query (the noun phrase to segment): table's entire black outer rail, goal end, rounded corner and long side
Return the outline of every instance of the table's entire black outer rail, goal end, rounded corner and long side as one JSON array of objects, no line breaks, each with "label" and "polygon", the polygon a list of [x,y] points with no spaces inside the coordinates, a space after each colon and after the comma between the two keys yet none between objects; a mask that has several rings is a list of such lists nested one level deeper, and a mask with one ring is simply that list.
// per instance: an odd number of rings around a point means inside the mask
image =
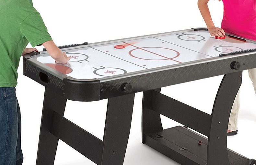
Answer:
[{"label": "table's entire black outer rail, goal end, rounded corner and long side", "polygon": [[[29,62],[27,59],[31,57],[27,55],[24,56],[23,72],[24,75],[59,94],[63,94],[69,100],[97,101],[256,68],[255,56],[256,53],[205,61],[164,71],[152,71],[147,74],[127,74],[124,78],[116,77],[100,82],[98,79],[79,80],[71,77],[60,79]],[[236,65],[239,67],[234,67],[234,63],[239,64]]]}]

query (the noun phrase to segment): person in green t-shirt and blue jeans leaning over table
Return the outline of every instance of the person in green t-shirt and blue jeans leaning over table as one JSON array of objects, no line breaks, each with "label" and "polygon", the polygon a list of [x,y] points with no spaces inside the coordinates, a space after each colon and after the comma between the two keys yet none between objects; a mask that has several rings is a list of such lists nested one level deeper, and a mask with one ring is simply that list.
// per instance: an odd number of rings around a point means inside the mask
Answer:
[{"label": "person in green t-shirt and blue jeans leaning over table", "polygon": [[15,95],[21,55],[42,44],[57,63],[67,57],[52,41],[31,0],[0,0],[0,165],[21,165],[20,109]]}]

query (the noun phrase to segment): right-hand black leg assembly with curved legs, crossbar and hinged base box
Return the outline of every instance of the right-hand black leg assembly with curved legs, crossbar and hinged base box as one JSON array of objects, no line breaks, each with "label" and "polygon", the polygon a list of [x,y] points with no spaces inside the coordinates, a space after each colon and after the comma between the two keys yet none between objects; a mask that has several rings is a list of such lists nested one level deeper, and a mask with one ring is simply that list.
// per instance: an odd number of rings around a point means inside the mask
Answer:
[{"label": "right-hand black leg assembly with curved legs, crossbar and hinged base box", "polygon": [[[248,165],[248,158],[227,149],[228,120],[241,81],[242,71],[224,75],[212,115],[158,91],[146,91],[142,115],[143,142],[184,165]],[[208,139],[180,126],[162,130],[159,114],[204,134]]]}]

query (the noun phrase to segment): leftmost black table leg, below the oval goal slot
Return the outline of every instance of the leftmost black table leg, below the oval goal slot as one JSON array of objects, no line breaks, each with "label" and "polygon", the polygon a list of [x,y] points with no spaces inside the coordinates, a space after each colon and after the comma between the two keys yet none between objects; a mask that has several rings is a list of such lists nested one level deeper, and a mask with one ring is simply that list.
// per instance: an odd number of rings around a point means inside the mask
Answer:
[{"label": "leftmost black table leg, below the oval goal slot", "polygon": [[36,165],[53,165],[59,138],[50,133],[53,111],[64,116],[66,99],[45,88]]}]

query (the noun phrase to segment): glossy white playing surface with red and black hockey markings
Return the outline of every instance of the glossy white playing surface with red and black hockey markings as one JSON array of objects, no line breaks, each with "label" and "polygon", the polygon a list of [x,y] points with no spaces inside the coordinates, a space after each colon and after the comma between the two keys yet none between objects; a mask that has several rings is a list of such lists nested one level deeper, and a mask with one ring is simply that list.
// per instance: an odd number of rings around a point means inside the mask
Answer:
[{"label": "glossy white playing surface with red and black hockey markings", "polygon": [[[116,49],[116,45],[123,45],[125,48]],[[208,31],[192,31],[67,50],[67,55],[72,58],[65,66],[73,70],[67,76],[93,79],[254,48],[254,43],[230,37],[220,40],[211,37]],[[48,54],[33,58],[44,64],[55,63]]]}]

